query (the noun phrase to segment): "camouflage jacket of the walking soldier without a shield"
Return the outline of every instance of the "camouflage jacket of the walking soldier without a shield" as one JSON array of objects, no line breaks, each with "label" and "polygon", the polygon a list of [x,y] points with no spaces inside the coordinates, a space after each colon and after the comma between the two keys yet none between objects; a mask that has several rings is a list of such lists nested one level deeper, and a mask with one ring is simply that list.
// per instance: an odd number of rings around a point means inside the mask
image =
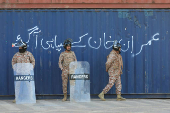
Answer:
[{"label": "camouflage jacket of the walking soldier without a shield", "polygon": [[123,69],[123,60],[122,56],[116,53],[115,50],[112,50],[110,54],[107,56],[106,62],[106,71],[112,71],[114,74],[119,73],[122,74]]}]

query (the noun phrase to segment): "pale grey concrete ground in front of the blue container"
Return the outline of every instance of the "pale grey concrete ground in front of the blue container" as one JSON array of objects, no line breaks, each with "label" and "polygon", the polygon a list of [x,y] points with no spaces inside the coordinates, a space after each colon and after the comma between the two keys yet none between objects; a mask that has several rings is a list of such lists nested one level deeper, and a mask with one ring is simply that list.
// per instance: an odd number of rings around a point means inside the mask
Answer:
[{"label": "pale grey concrete ground in front of the blue container", "polygon": [[81,103],[50,99],[37,100],[36,104],[0,100],[0,113],[170,113],[170,99],[92,99]]}]

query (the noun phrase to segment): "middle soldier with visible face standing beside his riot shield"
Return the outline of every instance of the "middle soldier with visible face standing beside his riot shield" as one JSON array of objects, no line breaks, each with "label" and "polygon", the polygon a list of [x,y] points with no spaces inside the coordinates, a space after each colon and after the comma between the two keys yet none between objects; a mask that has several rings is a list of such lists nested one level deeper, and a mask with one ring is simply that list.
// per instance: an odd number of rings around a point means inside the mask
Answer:
[{"label": "middle soldier with visible face standing beside his riot shield", "polygon": [[63,94],[64,98],[62,101],[67,100],[67,83],[68,83],[68,74],[69,74],[69,64],[73,61],[77,61],[76,55],[73,51],[71,51],[71,41],[66,40],[64,42],[65,51],[60,54],[59,57],[59,67],[62,70],[62,86],[63,86]]}]

